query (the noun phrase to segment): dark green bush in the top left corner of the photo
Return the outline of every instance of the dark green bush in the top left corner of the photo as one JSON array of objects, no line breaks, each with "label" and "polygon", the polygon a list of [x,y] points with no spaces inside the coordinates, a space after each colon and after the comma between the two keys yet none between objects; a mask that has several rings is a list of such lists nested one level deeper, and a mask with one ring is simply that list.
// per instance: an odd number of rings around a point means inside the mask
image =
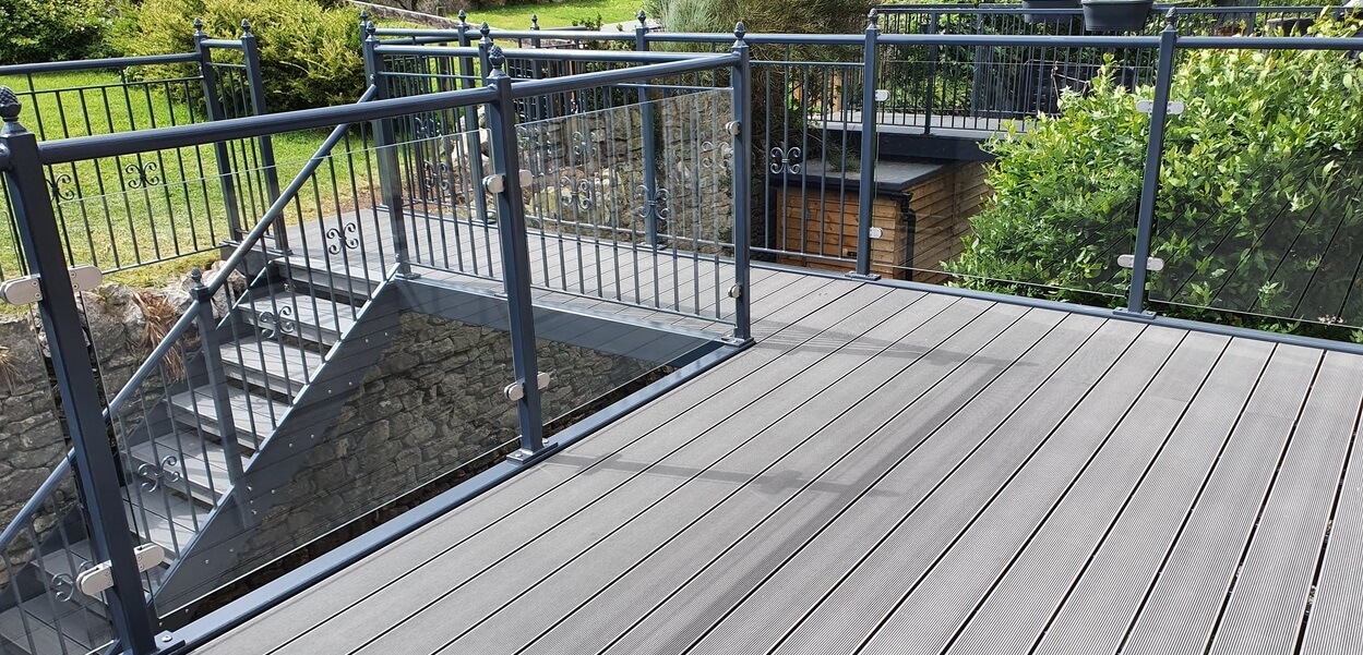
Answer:
[{"label": "dark green bush in the top left corner of the photo", "polygon": [[0,65],[97,54],[106,14],[101,0],[0,0]]}]

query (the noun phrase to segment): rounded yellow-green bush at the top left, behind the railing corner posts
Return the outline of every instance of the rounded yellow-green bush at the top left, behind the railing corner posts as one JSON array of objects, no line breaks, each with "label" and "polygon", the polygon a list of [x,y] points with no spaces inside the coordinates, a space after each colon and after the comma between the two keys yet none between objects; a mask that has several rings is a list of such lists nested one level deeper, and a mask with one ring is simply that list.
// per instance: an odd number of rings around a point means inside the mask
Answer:
[{"label": "rounded yellow-green bush at the top left, behind the railing corner posts", "polygon": [[194,49],[194,19],[215,38],[251,20],[271,112],[354,102],[364,90],[356,12],[309,0],[146,0],[125,11],[114,41],[129,54]]}]

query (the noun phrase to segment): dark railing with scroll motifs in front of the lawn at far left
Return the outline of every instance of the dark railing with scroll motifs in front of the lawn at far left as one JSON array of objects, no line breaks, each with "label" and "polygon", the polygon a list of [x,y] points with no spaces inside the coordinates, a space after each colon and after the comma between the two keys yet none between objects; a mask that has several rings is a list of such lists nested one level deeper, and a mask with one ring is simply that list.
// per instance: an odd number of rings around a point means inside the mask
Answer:
[{"label": "dark railing with scroll motifs in front of the lawn at far left", "polygon": [[[30,108],[42,140],[263,114],[259,52],[243,29],[237,39],[211,39],[198,23],[195,52],[181,54],[5,65],[0,83]],[[105,272],[217,249],[279,191],[269,138],[48,166],[45,178],[68,263]],[[11,279],[27,270],[12,203],[0,196],[0,279]],[[109,202],[101,211],[67,203],[93,196]]]}]

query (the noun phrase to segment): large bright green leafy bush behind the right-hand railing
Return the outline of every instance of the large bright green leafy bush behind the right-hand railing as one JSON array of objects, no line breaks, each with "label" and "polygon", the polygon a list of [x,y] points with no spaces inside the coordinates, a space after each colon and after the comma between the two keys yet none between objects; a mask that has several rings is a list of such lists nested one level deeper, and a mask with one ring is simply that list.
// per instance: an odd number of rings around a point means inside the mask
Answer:
[{"label": "large bright green leafy bush behind the right-hand railing", "polygon": [[[1341,52],[1179,54],[1171,98],[1187,109],[1165,132],[1153,256],[1167,268],[1152,300],[1363,324],[1363,302],[1343,306],[1363,259],[1360,80]],[[1131,252],[1149,129],[1135,98],[1150,97],[1100,75],[1059,117],[991,142],[995,199],[947,268],[976,287],[1124,295],[1116,256]]]}]

